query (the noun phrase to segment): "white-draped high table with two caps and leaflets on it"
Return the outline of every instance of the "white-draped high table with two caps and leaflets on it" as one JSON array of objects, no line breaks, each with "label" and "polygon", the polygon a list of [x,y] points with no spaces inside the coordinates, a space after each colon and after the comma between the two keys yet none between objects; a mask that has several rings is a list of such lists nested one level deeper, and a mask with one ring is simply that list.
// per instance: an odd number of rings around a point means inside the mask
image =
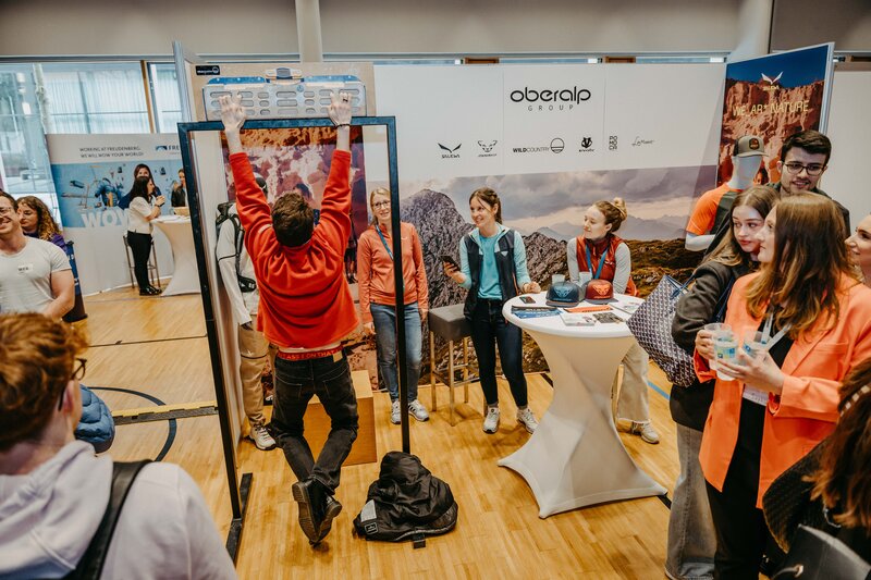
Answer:
[{"label": "white-draped high table with two caps and leaflets on it", "polygon": [[[544,293],[535,298],[537,306],[544,306]],[[665,494],[665,488],[626,453],[611,412],[614,375],[634,340],[626,324],[566,326],[559,316],[518,318],[511,307],[522,305],[513,298],[502,313],[541,347],[553,380],[553,402],[529,441],[499,465],[527,481],[540,518],[602,502]],[[614,313],[628,318],[618,310]]]}]

